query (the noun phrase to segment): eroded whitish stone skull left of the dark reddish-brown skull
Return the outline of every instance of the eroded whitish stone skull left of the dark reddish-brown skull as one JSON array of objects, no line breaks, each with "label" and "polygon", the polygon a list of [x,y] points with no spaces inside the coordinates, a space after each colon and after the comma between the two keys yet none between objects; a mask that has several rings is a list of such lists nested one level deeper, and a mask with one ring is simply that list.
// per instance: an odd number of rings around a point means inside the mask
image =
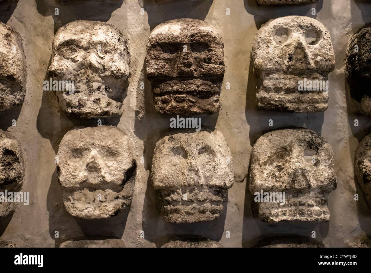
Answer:
[{"label": "eroded whitish stone skull left of the dark reddish-brown skull", "polygon": [[121,116],[129,65],[128,40],[115,26],[77,20],[60,27],[49,75],[74,81],[74,90],[57,91],[60,107],[79,118]]}]

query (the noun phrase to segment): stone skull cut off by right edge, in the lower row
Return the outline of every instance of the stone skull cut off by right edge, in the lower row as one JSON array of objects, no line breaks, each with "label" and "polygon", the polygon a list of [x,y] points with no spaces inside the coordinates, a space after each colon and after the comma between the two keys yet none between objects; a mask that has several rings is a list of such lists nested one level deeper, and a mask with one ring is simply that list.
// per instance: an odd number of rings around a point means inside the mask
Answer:
[{"label": "stone skull cut off by right edge, in the lower row", "polygon": [[358,144],[355,151],[354,172],[371,209],[371,134],[365,136]]}]

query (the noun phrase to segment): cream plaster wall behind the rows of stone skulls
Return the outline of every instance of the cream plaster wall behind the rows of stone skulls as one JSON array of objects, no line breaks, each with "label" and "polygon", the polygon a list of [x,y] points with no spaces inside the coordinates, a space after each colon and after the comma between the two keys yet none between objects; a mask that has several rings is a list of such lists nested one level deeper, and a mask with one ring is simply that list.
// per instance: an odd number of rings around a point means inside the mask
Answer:
[{"label": "cream plaster wall behind the rows of stone skulls", "polygon": [[[347,240],[371,235],[371,212],[354,180],[353,160],[358,142],[370,129],[370,117],[353,114],[347,107],[348,87],[344,59],[349,38],[370,22],[371,4],[356,0],[321,0],[306,6],[257,6],[255,0],[76,0],[69,4],[57,0],[20,0],[10,11],[0,5],[0,18],[23,38],[28,62],[26,99],[15,127],[12,117],[1,118],[1,129],[20,139],[26,154],[23,191],[30,192],[30,205],[19,205],[13,217],[0,223],[1,240],[29,247],[54,247],[63,240],[81,236],[115,236],[128,247],[161,246],[174,235],[202,235],[224,247],[249,247],[260,237],[284,234],[310,236],[325,246],[342,247]],[[63,1],[62,1],[63,2]],[[7,4],[5,4],[7,5]],[[59,15],[54,9],[59,8]],[[312,15],[312,8],[316,15]],[[141,9],[144,9],[143,10]],[[226,9],[230,15],[226,15]],[[12,10],[14,9],[14,10]],[[9,16],[8,14],[12,14]],[[257,29],[269,19],[285,15],[314,17],[329,29],[335,50],[336,68],[329,75],[329,108],[324,113],[291,114],[257,110],[251,75],[250,50]],[[203,116],[202,123],[215,125],[232,151],[236,181],[229,190],[228,203],[221,218],[200,224],[169,224],[159,214],[159,203],[150,185],[152,152],[158,137],[169,128],[170,117],[155,114],[150,84],[145,78],[145,45],[150,31],[174,18],[196,18],[214,25],[224,40],[225,65],[218,114]],[[94,126],[96,121],[71,119],[59,111],[56,96],[43,91],[55,31],[77,19],[100,20],[117,26],[130,42],[132,76],[124,113],[117,125],[132,138],[137,153],[137,181],[129,212],[108,220],[83,221],[64,209],[54,157],[63,135],[75,125]],[[3,21],[4,22],[4,21]],[[145,83],[145,90],[139,88]],[[230,90],[226,83],[230,82]],[[268,120],[273,120],[273,127]],[[359,127],[354,127],[354,120]],[[268,130],[301,126],[321,134],[335,154],[338,188],[329,195],[331,221],[322,224],[268,225],[252,217],[252,198],[246,187],[246,174],[252,145]],[[141,163],[141,157],[144,163]],[[59,238],[55,238],[59,231]],[[144,238],[140,232],[144,231]],[[230,238],[226,237],[230,231]]]}]

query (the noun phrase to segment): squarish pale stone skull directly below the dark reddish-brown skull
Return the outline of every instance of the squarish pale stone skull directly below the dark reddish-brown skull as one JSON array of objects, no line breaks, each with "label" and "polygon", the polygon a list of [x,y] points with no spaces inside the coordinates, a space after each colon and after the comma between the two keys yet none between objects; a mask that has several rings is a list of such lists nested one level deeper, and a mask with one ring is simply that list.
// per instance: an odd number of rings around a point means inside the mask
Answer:
[{"label": "squarish pale stone skull directly below the dark reddish-brown skull", "polygon": [[223,134],[176,130],[162,137],[154,150],[151,180],[168,222],[214,220],[233,185],[232,156]]}]

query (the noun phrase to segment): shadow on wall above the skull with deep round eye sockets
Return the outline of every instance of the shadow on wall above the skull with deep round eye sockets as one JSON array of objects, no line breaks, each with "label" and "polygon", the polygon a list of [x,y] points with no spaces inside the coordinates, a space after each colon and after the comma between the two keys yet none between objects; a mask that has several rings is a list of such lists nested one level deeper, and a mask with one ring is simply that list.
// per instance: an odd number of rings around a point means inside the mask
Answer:
[{"label": "shadow on wall above the skull with deep round eye sockets", "polygon": [[312,15],[312,8],[316,9],[316,13],[319,12],[322,9],[323,1],[325,0],[311,5],[260,5],[256,0],[244,0],[244,5],[246,11],[254,15],[256,27],[260,29],[260,26],[270,19],[288,15],[316,18],[317,15]]}]

